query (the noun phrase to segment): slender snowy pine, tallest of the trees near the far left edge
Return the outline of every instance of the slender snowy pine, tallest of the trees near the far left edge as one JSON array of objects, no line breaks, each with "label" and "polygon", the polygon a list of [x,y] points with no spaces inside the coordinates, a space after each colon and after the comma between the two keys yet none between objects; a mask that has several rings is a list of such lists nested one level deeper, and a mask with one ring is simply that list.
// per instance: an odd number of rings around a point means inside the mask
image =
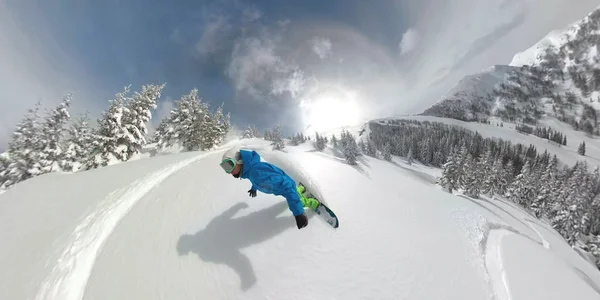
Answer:
[{"label": "slender snowy pine, tallest of the trees near the far left edge", "polygon": [[65,96],[55,109],[48,112],[44,121],[40,141],[41,174],[60,171],[65,166],[64,149],[62,149],[61,142],[64,138],[65,126],[71,118],[69,114],[71,99],[71,95]]}]

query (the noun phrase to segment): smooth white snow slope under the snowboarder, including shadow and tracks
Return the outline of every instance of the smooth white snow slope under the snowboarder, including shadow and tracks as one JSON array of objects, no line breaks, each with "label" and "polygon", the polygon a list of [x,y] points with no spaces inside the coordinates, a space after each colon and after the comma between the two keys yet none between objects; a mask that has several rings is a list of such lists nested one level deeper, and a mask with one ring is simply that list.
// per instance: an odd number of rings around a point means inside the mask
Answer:
[{"label": "smooth white snow slope under the snowboarder, including shadow and tracks", "polygon": [[1,299],[598,299],[545,223],[400,160],[241,141],[325,199],[334,230],[224,174],[224,150],[47,174],[0,195]]}]

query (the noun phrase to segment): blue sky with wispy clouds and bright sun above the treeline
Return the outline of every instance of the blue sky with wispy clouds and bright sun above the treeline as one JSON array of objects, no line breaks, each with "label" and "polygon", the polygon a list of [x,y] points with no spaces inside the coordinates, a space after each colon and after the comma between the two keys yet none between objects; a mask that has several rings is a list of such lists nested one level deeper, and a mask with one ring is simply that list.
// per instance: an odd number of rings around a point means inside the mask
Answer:
[{"label": "blue sky with wispy clouds and bright sun above the treeline", "polygon": [[480,2],[3,1],[0,141],[39,99],[73,92],[97,117],[129,84],[167,83],[154,123],[194,87],[240,127],[288,133],[417,112],[597,5]]}]

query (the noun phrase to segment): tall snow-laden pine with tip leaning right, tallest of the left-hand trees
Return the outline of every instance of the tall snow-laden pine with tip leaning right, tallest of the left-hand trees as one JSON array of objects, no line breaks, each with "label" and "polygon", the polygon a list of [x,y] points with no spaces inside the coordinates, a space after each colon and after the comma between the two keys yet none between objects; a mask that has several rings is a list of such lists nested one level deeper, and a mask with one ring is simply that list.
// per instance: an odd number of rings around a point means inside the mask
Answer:
[{"label": "tall snow-laden pine with tip leaning right, tallest of the left-hand trees", "polygon": [[127,145],[126,160],[139,153],[147,143],[148,128],[146,124],[152,119],[152,110],[156,109],[156,101],[160,98],[165,84],[143,85],[141,92],[135,92],[125,103],[127,114],[122,118],[123,125],[130,137]]}]

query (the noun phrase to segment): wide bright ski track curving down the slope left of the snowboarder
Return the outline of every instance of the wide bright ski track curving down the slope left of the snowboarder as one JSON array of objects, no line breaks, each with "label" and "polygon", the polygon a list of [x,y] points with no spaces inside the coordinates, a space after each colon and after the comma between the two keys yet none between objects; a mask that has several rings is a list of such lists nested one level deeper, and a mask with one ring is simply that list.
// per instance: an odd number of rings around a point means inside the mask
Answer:
[{"label": "wide bright ski track curving down the slope left of the snowboarder", "polygon": [[215,152],[171,164],[111,193],[101,201],[98,208],[75,228],[35,299],[82,299],[96,257],[119,221],[156,185],[173,173],[212,154]]}]

